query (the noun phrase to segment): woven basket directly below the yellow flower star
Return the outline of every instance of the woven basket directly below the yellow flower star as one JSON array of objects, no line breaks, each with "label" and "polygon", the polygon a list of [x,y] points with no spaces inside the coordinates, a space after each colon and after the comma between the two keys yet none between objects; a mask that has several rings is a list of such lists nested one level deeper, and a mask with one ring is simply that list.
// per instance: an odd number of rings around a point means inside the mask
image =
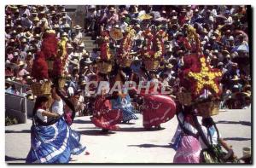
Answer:
[{"label": "woven basket directly below the yellow flower star", "polygon": [[210,117],[212,115],[218,115],[218,107],[220,101],[208,101],[197,104],[196,108],[198,114],[202,117]]}]

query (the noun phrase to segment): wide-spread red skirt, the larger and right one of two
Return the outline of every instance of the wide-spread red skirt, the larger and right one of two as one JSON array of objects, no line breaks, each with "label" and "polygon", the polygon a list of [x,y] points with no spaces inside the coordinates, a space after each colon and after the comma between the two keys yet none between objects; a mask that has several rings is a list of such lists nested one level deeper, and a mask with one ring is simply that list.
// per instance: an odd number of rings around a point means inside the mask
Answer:
[{"label": "wide-spread red skirt, the larger and right one of two", "polygon": [[176,113],[176,104],[169,96],[144,96],[143,126],[151,128],[172,119]]}]

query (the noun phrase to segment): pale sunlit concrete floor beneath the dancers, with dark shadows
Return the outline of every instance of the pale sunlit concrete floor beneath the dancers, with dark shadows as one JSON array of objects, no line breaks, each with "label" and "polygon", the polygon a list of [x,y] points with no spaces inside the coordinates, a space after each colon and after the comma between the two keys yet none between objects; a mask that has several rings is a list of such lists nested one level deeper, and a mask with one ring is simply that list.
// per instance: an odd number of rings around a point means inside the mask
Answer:
[{"label": "pale sunlit concrete floor beneath the dancers, with dark shadows", "polygon": [[[142,115],[131,124],[122,124],[120,130],[102,134],[90,123],[90,117],[77,117],[73,130],[81,134],[81,142],[90,155],[73,156],[71,163],[172,163],[175,151],[170,148],[177,128],[173,118],[161,126],[163,130],[144,130]],[[227,110],[213,119],[221,136],[233,146],[238,157],[243,147],[251,146],[251,109]],[[5,155],[8,163],[25,163],[30,148],[31,120],[23,125],[6,126]]]}]

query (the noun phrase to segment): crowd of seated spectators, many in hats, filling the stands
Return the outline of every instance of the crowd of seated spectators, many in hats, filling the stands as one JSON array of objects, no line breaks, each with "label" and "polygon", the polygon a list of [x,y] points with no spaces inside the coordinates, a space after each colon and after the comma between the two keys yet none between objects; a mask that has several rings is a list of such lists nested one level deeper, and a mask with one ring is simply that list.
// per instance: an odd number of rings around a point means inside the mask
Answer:
[{"label": "crowd of seated spectators, many in hats, filling the stands", "polygon": [[[113,27],[125,32],[128,26],[136,30],[131,52],[139,55],[143,47],[142,32],[164,30],[168,34],[165,43],[164,64],[169,65],[158,72],[160,81],[177,91],[177,73],[183,67],[183,58],[190,50],[183,44],[188,38],[187,26],[194,26],[199,34],[201,51],[214,68],[224,76],[221,81],[223,95],[221,108],[246,108],[251,103],[251,62],[247,6],[231,5],[120,5],[84,6],[84,27],[73,25],[64,5],[8,5],[5,8],[5,78],[6,92],[21,94],[14,83],[31,84],[32,61],[40,49],[44,32],[55,30],[57,38],[67,37],[67,68],[70,77],[65,85],[67,96],[76,103],[78,111],[84,109],[90,94],[84,84],[96,78],[96,58],[99,49],[85,49],[83,36],[96,40],[102,31]],[[149,14],[151,19],[143,20]],[[110,41],[115,53],[120,41]],[[138,56],[138,58],[140,58]],[[139,61],[131,65],[137,73]],[[24,96],[31,96],[26,90]],[[175,95],[175,94],[174,94]]]}]

